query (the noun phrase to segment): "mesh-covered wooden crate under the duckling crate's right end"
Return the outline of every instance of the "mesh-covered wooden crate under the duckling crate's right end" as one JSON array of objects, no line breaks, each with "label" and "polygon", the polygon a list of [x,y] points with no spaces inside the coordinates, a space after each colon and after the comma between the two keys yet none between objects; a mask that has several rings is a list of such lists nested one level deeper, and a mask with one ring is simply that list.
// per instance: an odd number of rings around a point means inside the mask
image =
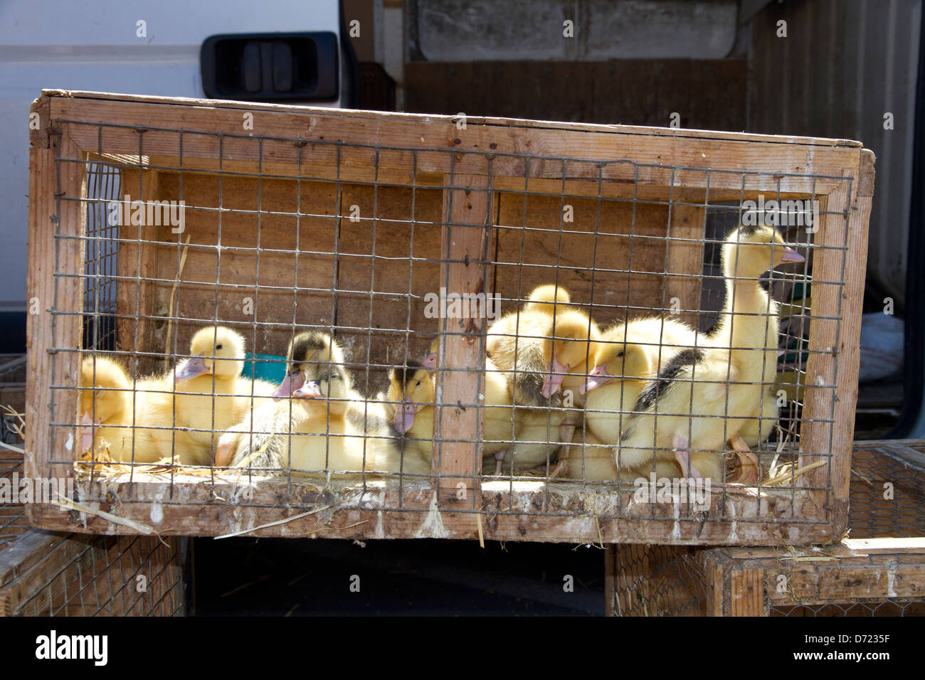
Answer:
[{"label": "mesh-covered wooden crate under the duckling crate's right end", "polygon": [[925,615],[923,450],[922,442],[856,445],[850,538],[835,545],[609,549],[609,612],[617,616]]}]

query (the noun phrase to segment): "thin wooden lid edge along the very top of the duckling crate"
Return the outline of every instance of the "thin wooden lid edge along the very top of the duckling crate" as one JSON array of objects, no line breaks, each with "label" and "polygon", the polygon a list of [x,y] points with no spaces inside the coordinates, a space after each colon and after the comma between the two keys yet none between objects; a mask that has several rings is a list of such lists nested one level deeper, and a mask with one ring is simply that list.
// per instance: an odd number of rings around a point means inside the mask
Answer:
[{"label": "thin wooden lid edge along the very top of the duckling crate", "polygon": [[[197,99],[191,97],[162,97],[146,94],[121,94],[121,93],[94,93],[81,90],[56,90],[47,89],[42,91],[43,97],[50,98],[68,98],[68,99],[86,99],[99,101],[115,102],[136,102],[149,103],[170,106],[198,106],[207,109],[230,108],[235,110],[247,111],[275,111],[282,113],[302,113],[312,114],[318,117],[350,117],[358,120],[376,123],[380,119],[388,118],[389,120],[398,121],[428,121],[438,120],[441,122],[452,122],[450,116],[435,116],[431,114],[414,114],[414,113],[395,113],[390,111],[361,111],[356,109],[331,109],[322,106],[302,106],[302,105],[285,105],[285,104],[264,104],[253,102],[235,102],[226,99]],[[522,126],[527,128],[549,128],[552,130],[585,130],[585,131],[614,131],[618,130],[626,134],[650,134],[665,135],[671,137],[703,137],[709,136],[712,139],[731,139],[744,140],[750,142],[771,142],[784,141],[792,144],[810,144],[819,146],[849,146],[860,147],[861,142],[852,140],[829,139],[826,137],[800,137],[796,135],[768,135],[754,134],[749,132],[724,132],[719,130],[685,130],[675,128],[650,128],[645,126],[633,125],[601,125],[595,123],[572,123],[556,120],[524,120],[522,118],[503,118],[503,117],[469,117],[470,121],[477,124],[501,125],[501,126]]]}]

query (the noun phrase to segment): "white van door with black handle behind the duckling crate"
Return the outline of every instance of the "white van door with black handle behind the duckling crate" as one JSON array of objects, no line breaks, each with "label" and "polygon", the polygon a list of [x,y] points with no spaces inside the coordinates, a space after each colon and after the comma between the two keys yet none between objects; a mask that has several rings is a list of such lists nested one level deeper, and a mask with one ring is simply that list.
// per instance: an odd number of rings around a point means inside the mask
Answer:
[{"label": "white van door with black handle behind the duckling crate", "polygon": [[0,352],[25,351],[29,107],[43,88],[355,105],[341,22],[338,0],[0,3]]}]

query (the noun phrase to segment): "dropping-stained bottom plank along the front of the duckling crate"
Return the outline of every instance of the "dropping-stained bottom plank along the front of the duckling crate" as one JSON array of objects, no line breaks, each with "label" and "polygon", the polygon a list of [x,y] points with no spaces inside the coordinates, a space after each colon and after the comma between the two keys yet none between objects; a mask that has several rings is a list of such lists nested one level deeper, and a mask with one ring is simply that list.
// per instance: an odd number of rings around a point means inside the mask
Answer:
[{"label": "dropping-stained bottom plank along the front of the duckling crate", "polygon": [[[216,476],[214,483],[203,477],[135,473],[110,476],[105,484],[86,480],[78,484],[81,502],[93,510],[104,510],[120,517],[152,526],[161,536],[216,536],[289,520],[313,508],[327,508],[286,524],[268,526],[249,533],[253,536],[317,538],[477,538],[475,514],[452,512],[434,507],[434,489],[429,485],[397,482],[369,477],[366,485],[332,480],[327,489],[316,485],[288,487],[284,477],[262,480],[250,487]],[[154,481],[156,480],[156,481]],[[242,486],[243,485],[243,486]],[[808,515],[806,493],[768,494],[760,510],[748,498],[729,495],[723,505],[717,499],[706,521],[702,516],[679,520],[671,503],[648,505],[646,513],[629,515],[615,493],[602,493],[579,482],[515,482],[514,494],[493,490],[510,487],[510,482],[482,484],[482,529],[486,539],[555,541],[566,543],[637,543],[674,545],[781,545],[786,527],[789,545],[831,543],[831,526],[796,522]],[[486,490],[487,487],[487,490]],[[455,488],[454,488],[455,490]],[[250,495],[246,505],[218,499],[240,499]],[[542,499],[548,505],[542,507]],[[471,498],[471,497],[470,497]],[[152,504],[160,513],[152,520]],[[37,522],[60,531],[106,534],[136,533],[125,525],[112,525],[90,513],[69,513],[51,505],[35,504]],[[360,510],[360,508],[363,508]],[[195,509],[191,512],[191,509]],[[465,510],[466,508],[463,508]],[[738,517],[735,523],[720,521],[721,513]]]}]

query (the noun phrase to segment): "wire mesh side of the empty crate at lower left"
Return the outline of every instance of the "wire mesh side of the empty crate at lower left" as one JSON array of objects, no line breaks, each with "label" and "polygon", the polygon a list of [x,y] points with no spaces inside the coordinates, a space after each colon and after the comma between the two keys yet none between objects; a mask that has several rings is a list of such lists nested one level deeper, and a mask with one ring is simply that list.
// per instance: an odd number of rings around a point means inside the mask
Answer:
[{"label": "wire mesh side of the empty crate at lower left", "polygon": [[[20,576],[18,616],[183,616],[179,540],[67,538]],[[41,568],[40,568],[41,567]],[[43,578],[43,583],[34,579]]]}]

